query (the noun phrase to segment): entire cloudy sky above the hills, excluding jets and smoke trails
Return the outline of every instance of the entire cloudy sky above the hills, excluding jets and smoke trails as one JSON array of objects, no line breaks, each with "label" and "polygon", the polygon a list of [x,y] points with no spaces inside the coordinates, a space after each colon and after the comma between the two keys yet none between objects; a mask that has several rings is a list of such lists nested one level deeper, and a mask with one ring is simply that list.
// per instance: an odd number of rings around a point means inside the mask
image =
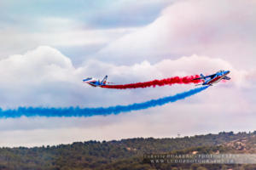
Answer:
[{"label": "entire cloudy sky above the hills, excluding jets and smoke trails", "polygon": [[109,116],[0,118],[0,146],[169,138],[256,130],[253,0],[3,0],[0,107],[108,107],[195,88],[106,89],[230,70],[231,80],[175,103]]}]

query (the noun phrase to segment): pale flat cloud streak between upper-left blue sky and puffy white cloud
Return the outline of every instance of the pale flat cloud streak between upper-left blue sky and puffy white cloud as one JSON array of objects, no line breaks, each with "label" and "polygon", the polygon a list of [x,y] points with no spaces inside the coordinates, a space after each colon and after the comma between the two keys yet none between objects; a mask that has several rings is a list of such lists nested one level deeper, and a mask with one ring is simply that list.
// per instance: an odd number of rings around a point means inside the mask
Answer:
[{"label": "pale flat cloud streak between upper-left blue sky and puffy white cloud", "polygon": [[[0,59],[11,54],[25,53],[38,46],[52,46],[55,48],[88,48],[101,47],[116,38],[135,31],[136,27],[94,29],[75,20],[57,17],[42,17],[30,20],[34,23],[27,30],[20,26],[0,28]],[[85,56],[87,51],[79,57]],[[78,55],[78,54],[76,54]],[[71,56],[75,58],[76,56]],[[83,59],[84,60],[84,59]]]}]

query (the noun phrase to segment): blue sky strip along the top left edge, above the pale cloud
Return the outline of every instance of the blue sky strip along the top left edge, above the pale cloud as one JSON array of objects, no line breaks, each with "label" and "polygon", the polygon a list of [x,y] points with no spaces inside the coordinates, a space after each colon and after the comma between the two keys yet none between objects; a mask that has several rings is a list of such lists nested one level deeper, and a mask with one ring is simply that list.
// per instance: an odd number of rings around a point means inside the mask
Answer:
[{"label": "blue sky strip along the top left edge, above the pale cloud", "polygon": [[166,0],[6,1],[3,2],[2,17],[15,22],[21,19],[32,27],[34,25],[29,21],[40,20],[42,17],[78,20],[94,28],[145,26],[170,3]]}]

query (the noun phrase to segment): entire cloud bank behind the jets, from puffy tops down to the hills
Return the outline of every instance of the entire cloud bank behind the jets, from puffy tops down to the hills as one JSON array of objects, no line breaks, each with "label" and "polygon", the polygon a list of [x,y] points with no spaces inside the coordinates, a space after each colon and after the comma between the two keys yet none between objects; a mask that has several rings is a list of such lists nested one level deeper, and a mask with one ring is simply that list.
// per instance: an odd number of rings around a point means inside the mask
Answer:
[{"label": "entire cloud bank behind the jets, from puffy tops down to the hills", "polygon": [[[237,70],[224,59],[192,55],[163,59],[154,64],[143,61],[135,65],[90,60],[76,68],[55,48],[39,47],[26,54],[12,55],[0,60],[0,71],[3,73],[0,77],[0,105],[3,109],[20,105],[128,105],[176,94],[195,86],[113,90],[91,88],[82,84],[81,80],[87,76],[103,77],[108,74],[111,82],[143,82],[201,72],[207,74],[219,69],[231,71],[230,82],[219,82],[189,99],[145,111],[118,116],[2,118],[0,136],[3,140],[0,145],[67,144],[88,139],[170,137],[177,133],[192,135],[255,128],[252,121],[256,110],[253,105],[255,99],[250,95],[255,92],[255,71]],[[186,125],[181,125],[185,120]],[[227,124],[226,120],[232,123]],[[231,127],[237,124],[239,127],[236,129]]]}]

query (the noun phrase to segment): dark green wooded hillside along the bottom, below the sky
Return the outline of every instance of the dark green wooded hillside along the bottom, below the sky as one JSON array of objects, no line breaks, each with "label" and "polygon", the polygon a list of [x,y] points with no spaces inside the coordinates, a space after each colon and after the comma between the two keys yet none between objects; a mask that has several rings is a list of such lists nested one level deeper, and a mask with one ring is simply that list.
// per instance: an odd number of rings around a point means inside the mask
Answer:
[{"label": "dark green wooded hillside along the bottom, below the sky", "polygon": [[[122,139],[87,141],[43,147],[0,149],[0,169],[252,169],[248,165],[150,164],[145,153],[233,153],[232,141],[250,139],[253,133],[218,133],[176,139]],[[232,148],[232,147],[233,148]],[[240,146],[239,146],[240,147]],[[246,147],[244,147],[246,148]],[[241,148],[240,148],[241,149]],[[253,165],[251,165],[253,166]],[[256,169],[256,167],[255,167]]]}]

